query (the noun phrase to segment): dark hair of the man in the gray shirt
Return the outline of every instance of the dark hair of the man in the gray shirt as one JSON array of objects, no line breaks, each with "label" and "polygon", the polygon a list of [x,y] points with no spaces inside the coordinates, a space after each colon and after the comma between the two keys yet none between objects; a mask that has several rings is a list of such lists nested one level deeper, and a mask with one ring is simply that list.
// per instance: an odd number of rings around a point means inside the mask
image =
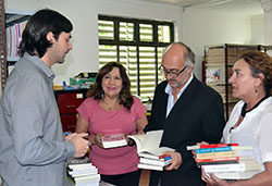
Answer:
[{"label": "dark hair of the man in the gray shirt", "polygon": [[20,44],[18,54],[25,52],[42,58],[52,44],[47,39],[47,34],[52,32],[55,40],[62,32],[71,33],[72,23],[59,12],[42,9],[36,12],[27,22]]}]

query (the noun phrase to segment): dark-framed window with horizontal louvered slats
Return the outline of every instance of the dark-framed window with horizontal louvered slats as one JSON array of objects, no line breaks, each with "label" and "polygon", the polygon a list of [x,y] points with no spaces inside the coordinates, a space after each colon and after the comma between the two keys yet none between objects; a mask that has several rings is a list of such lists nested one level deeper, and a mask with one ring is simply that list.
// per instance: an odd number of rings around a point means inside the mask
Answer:
[{"label": "dark-framed window with horizontal louvered slats", "polygon": [[99,67],[111,61],[127,70],[132,94],[143,101],[153,98],[154,87],[163,79],[159,73],[162,52],[174,40],[174,24],[99,15]]}]

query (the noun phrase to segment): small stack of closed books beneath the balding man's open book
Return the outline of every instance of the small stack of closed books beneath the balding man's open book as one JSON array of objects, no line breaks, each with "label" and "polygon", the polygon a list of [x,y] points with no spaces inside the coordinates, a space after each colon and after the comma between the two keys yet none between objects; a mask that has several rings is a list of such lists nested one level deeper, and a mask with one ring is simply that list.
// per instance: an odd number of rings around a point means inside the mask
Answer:
[{"label": "small stack of closed books beneath the balding man's open book", "polygon": [[172,163],[172,158],[170,156],[144,156],[139,158],[139,169],[163,171],[164,166]]}]

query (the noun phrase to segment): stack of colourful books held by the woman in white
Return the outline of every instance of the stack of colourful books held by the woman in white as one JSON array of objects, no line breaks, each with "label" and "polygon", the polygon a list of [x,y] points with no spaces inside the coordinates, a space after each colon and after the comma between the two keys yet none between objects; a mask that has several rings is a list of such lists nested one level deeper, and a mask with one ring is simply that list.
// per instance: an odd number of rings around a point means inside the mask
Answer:
[{"label": "stack of colourful books held by the woman in white", "polygon": [[223,179],[246,179],[261,171],[261,165],[254,158],[250,146],[238,144],[217,144],[188,146],[187,150],[195,150],[196,163],[206,174],[213,173]]}]

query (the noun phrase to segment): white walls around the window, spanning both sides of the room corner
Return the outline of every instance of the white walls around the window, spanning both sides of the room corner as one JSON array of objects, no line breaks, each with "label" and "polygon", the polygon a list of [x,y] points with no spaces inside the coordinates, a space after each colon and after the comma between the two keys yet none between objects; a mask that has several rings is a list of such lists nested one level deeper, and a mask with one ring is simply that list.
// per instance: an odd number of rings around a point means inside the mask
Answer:
[{"label": "white walls around the window, spanning both sides of the room corner", "polygon": [[203,46],[218,44],[261,44],[263,41],[262,17],[237,16],[211,11],[189,9],[183,12],[174,5],[133,2],[126,0],[5,0],[5,9],[35,12],[50,8],[66,15],[74,24],[73,50],[64,64],[52,69],[54,84],[79,72],[98,70],[98,14],[173,21],[175,40],[187,44],[197,57],[195,74],[201,79]]}]

